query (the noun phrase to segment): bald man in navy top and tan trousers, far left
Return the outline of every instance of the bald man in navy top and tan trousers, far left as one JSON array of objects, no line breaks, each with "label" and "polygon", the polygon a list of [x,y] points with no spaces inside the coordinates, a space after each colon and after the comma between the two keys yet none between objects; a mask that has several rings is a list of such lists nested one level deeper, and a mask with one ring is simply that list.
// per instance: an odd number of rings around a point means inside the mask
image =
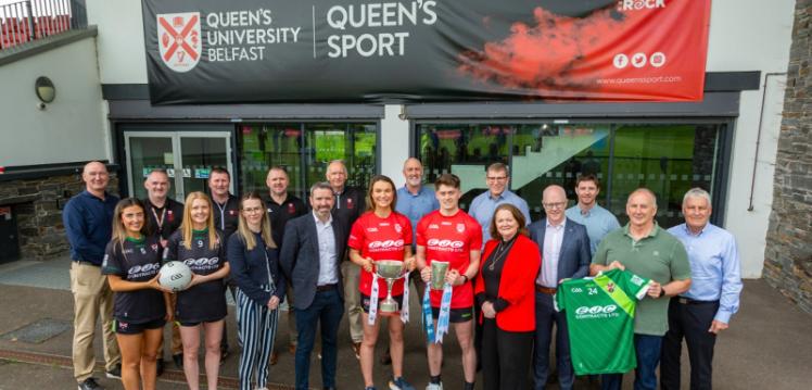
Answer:
[{"label": "bald man in navy top and tan trousers, far left", "polygon": [[62,213],[71,244],[71,291],[74,294],[74,377],[79,390],[103,389],[92,378],[96,366],[93,337],[101,316],[104,367],[109,378],[120,378],[122,354],[113,332],[113,291],[101,273],[104,248],[112,236],[113,212],[118,198],[106,192],[110,174],[92,161],[81,172],[85,191],[71,198]]}]

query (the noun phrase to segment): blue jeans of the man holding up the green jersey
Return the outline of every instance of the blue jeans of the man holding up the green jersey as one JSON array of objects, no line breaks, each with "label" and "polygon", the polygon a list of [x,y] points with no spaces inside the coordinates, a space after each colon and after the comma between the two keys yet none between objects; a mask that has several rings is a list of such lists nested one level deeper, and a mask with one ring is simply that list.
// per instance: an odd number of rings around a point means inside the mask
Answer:
[{"label": "blue jeans of the man holding up the green jersey", "polygon": [[[657,365],[660,363],[662,336],[634,334],[634,351],[637,353],[637,368],[634,370],[634,390],[657,389]],[[620,390],[623,374],[600,376],[601,390]]]}]

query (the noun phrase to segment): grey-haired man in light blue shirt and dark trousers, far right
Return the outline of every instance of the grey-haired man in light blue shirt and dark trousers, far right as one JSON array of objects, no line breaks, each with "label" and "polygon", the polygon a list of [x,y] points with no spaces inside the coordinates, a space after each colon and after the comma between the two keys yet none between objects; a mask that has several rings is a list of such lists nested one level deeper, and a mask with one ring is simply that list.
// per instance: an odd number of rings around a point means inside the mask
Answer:
[{"label": "grey-haired man in light blue shirt and dark trousers, far right", "polygon": [[690,388],[711,389],[713,345],[738,311],[741,273],[736,240],[708,222],[710,194],[693,188],[683,198],[685,223],[669,229],[685,246],[690,261],[692,285],[671,299],[669,331],[662,341],[660,387],[680,389],[682,340],[688,345]]}]

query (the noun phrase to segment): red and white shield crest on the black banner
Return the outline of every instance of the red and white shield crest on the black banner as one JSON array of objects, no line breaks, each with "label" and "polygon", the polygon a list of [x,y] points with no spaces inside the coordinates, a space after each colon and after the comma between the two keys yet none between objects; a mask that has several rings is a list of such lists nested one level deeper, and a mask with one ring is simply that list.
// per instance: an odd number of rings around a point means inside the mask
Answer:
[{"label": "red and white shield crest on the black banner", "polygon": [[[157,47],[164,64],[178,73],[194,68],[203,51],[200,12],[157,15]],[[169,211],[172,221],[172,211]]]}]

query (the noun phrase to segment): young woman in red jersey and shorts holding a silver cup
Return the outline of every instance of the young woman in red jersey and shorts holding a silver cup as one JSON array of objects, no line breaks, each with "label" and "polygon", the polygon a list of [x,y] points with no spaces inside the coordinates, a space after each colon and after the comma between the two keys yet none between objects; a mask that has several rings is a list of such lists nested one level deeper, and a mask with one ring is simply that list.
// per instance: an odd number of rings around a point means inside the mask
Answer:
[{"label": "young woman in red jersey and shorts holding a silver cup", "polygon": [[[361,323],[364,324],[364,340],[360,348],[360,370],[364,375],[366,389],[375,389],[372,378],[372,360],[375,344],[378,341],[380,318],[378,307],[370,309],[373,291],[373,276],[376,261],[395,260],[403,262],[404,269],[415,268],[415,257],[411,254],[411,224],[405,215],[394,211],[397,194],[395,184],[386,176],[372,177],[367,191],[367,212],[353,224],[350,232],[350,259],[361,267],[358,289],[361,293]],[[388,287],[383,278],[378,278],[378,302],[386,298]],[[404,279],[398,279],[392,286],[392,297],[398,302],[401,310],[408,302],[403,301]],[[369,324],[370,311],[376,313],[373,325]],[[414,389],[403,378],[403,327],[399,317],[389,319],[390,351],[392,354],[393,378],[389,382],[390,389]]]}]

